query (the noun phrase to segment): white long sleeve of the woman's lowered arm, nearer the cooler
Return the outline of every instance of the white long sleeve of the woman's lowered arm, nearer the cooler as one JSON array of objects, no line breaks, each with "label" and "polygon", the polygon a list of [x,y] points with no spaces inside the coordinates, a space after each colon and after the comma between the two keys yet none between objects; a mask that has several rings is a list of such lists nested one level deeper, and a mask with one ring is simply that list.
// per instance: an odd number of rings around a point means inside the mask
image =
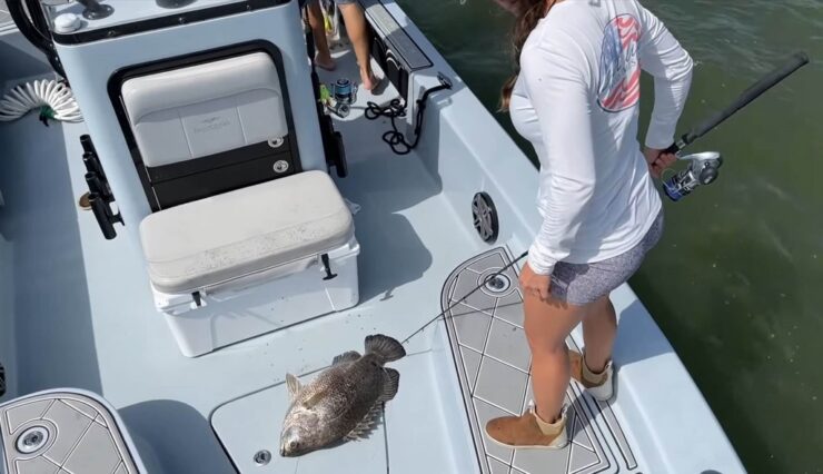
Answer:
[{"label": "white long sleeve of the woman's lowered arm, nearer the cooler", "polygon": [[524,51],[522,75],[537,112],[546,145],[551,189],[545,219],[529,249],[528,266],[549,275],[571,253],[583,215],[594,192],[595,157],[589,88],[584,58],[568,45],[541,45]]}]

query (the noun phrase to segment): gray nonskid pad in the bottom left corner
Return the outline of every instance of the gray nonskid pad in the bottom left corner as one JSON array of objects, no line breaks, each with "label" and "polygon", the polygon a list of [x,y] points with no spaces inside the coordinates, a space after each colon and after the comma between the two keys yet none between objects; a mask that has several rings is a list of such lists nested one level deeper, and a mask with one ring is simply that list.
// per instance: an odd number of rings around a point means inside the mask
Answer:
[{"label": "gray nonskid pad in the bottom left corner", "polygon": [[138,472],[109,411],[80,394],[33,395],[0,407],[0,438],[11,474]]}]

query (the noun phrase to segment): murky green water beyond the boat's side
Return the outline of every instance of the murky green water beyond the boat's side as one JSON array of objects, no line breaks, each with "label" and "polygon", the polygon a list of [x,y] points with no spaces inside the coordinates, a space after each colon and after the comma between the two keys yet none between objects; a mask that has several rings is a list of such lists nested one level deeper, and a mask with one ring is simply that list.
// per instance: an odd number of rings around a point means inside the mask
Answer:
[{"label": "murky green water beyond the boat's side", "polygon": [[[495,110],[508,16],[490,0],[401,4]],[[823,472],[823,0],[644,4],[698,65],[683,131],[792,52],[812,58],[692,148],[724,154],[721,178],[666,204],[666,235],[631,284],[750,472]]]}]

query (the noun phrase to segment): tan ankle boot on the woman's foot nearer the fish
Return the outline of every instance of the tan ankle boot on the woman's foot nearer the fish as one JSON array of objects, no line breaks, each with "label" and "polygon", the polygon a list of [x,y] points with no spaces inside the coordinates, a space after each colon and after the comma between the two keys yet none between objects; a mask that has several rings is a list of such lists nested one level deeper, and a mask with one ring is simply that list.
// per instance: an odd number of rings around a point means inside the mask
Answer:
[{"label": "tan ankle boot on the woman's foot nearer the fish", "polygon": [[537,416],[534,407],[520,416],[503,416],[486,424],[486,436],[495,443],[523,450],[559,450],[568,444],[566,435],[566,407],[561,419],[546,423]]}]

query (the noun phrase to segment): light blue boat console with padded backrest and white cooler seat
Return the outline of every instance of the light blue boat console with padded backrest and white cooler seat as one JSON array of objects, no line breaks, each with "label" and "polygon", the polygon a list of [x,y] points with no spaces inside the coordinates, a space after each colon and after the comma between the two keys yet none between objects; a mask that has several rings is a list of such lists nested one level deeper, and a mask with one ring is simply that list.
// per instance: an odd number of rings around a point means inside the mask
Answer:
[{"label": "light blue boat console with padded backrest and white cooler seat", "polygon": [[89,129],[91,207],[106,238],[140,246],[185,355],[357,304],[359,245],[328,176],[345,154],[296,0],[43,13]]}]

